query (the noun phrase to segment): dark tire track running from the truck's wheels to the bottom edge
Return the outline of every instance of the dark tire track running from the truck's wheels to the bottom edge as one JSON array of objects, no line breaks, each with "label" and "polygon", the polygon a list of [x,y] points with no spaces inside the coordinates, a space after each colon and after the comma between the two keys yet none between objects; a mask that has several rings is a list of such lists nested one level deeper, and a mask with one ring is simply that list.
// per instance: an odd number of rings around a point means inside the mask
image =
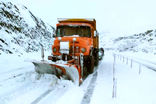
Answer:
[{"label": "dark tire track running from the truck's wheels to the bottom edge", "polygon": [[96,79],[97,79],[97,71],[93,74],[93,77],[88,85],[87,91],[83,96],[81,104],[89,104],[90,103],[91,96],[92,96],[94,88],[95,88]]}]

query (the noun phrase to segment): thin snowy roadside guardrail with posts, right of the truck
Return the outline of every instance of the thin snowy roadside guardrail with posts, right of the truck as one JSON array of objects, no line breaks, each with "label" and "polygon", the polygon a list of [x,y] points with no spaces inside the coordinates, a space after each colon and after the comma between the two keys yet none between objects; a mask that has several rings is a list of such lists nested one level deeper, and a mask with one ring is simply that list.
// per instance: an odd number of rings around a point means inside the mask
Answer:
[{"label": "thin snowy roadside guardrail with posts, right of the truck", "polygon": [[[156,63],[152,63],[149,61],[142,61],[141,59],[134,59],[132,57],[124,56],[121,54],[115,54],[113,53],[114,61],[113,61],[113,91],[112,91],[112,98],[116,98],[116,92],[117,92],[117,77],[116,77],[116,69],[115,69],[115,64],[117,61],[117,58],[122,61],[123,63],[126,63],[127,65],[130,64],[130,67],[133,68],[133,64],[136,63],[139,65],[139,71],[138,73],[141,74],[142,72],[142,66],[153,70],[156,72]],[[130,62],[130,63],[129,63]]]}]

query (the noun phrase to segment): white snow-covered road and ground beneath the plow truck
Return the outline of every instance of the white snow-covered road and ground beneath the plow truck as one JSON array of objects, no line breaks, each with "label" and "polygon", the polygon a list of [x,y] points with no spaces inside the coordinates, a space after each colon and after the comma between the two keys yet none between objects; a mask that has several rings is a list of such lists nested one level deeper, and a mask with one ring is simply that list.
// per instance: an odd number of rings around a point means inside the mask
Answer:
[{"label": "white snow-covered road and ground beneath the plow truck", "polygon": [[[32,54],[31,54],[32,55]],[[138,65],[123,64],[116,59],[116,98],[113,91],[113,56],[107,52],[96,72],[76,86],[54,75],[39,75],[31,55],[0,56],[0,104],[155,104],[156,72]],[[38,58],[33,55],[31,58]]]}]

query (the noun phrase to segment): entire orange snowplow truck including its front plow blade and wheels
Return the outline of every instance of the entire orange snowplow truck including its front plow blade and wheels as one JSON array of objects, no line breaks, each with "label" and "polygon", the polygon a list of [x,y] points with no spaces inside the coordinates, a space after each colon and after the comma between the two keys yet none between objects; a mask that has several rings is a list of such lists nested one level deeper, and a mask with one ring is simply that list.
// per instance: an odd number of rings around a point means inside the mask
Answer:
[{"label": "entire orange snowplow truck including its front plow blade and wheels", "polygon": [[[104,55],[95,19],[58,19],[48,61],[34,61],[38,73],[55,74],[79,84]],[[43,55],[42,55],[43,56]]]}]

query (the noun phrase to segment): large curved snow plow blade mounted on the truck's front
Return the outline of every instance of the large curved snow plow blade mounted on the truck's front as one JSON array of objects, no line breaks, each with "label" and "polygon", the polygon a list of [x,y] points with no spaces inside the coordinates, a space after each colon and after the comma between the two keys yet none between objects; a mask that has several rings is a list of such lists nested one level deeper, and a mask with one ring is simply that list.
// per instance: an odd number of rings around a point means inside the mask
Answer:
[{"label": "large curved snow plow blade mounted on the truck's front", "polygon": [[79,71],[75,65],[58,64],[49,61],[33,61],[35,71],[40,74],[54,74],[57,77],[72,80],[75,84],[79,84]]}]

